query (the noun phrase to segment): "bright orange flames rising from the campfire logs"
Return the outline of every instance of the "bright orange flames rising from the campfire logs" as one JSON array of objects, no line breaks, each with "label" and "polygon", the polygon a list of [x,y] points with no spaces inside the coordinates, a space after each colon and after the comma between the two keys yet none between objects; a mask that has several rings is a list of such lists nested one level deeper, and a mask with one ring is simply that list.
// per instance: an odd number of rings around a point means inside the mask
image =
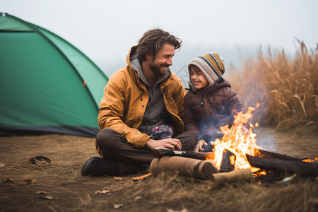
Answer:
[{"label": "bright orange flames rising from the campfire logs", "polygon": [[[224,136],[222,139],[216,139],[214,144],[214,164],[220,170],[222,163],[222,156],[225,150],[232,152],[235,158],[235,170],[249,168],[252,172],[259,170],[259,168],[251,167],[245,154],[254,156],[259,151],[256,144],[256,134],[252,132],[253,124],[249,124],[247,129],[248,120],[252,118],[252,112],[259,107],[248,107],[246,113],[239,112],[234,116],[234,122],[231,128],[228,125],[221,126],[220,130],[223,131]],[[258,126],[258,123],[255,124]]]}]

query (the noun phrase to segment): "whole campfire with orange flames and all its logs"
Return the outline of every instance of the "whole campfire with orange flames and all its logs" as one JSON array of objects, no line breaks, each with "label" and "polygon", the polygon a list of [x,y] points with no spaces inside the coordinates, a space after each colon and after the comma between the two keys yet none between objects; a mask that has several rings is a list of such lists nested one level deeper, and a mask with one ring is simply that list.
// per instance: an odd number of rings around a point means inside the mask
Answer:
[{"label": "whole campfire with orange flames and all its logs", "polygon": [[[290,175],[318,176],[318,158],[293,158],[289,155],[261,150],[256,143],[254,127],[249,123],[252,112],[259,107],[248,107],[247,112],[235,115],[232,126],[220,127],[224,136],[212,143],[209,153],[192,151],[172,151],[155,149],[155,160],[151,163],[151,173],[163,171],[177,172],[179,175],[198,179],[214,179],[218,182],[247,180],[262,176],[279,175],[279,179]],[[249,131],[243,130],[249,124]],[[247,125],[248,126],[248,125]],[[254,175],[253,175],[254,174]],[[277,177],[276,177],[277,178]]]}]

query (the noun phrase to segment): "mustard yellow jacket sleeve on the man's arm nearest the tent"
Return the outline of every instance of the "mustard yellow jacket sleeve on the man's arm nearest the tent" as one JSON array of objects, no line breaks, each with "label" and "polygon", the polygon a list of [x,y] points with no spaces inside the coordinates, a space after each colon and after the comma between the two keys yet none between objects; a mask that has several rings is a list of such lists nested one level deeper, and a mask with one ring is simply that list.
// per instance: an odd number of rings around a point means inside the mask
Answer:
[{"label": "mustard yellow jacket sleeve on the man's arm nearest the tent", "polygon": [[137,147],[145,146],[150,136],[142,134],[124,124],[126,80],[121,73],[114,74],[105,86],[104,97],[100,101],[100,112],[98,114],[99,129],[110,128],[126,136],[129,143]]}]

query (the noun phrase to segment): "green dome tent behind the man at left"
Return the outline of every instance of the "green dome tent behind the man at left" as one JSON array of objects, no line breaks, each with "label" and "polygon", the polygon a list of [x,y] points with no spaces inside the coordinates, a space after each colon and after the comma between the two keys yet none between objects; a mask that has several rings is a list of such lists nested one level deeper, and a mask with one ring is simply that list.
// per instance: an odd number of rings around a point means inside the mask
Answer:
[{"label": "green dome tent behind the man at left", "polygon": [[0,136],[96,136],[107,81],[66,40],[0,13]]}]

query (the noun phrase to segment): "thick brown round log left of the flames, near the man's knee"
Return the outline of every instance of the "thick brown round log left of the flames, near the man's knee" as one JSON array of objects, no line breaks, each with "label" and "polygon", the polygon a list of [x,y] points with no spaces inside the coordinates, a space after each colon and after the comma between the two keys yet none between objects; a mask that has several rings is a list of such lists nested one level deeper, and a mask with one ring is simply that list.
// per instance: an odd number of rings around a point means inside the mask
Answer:
[{"label": "thick brown round log left of the flames, near the man's knee", "polygon": [[178,175],[196,179],[213,179],[212,174],[218,170],[208,160],[184,158],[180,156],[163,156],[151,162],[150,171],[153,176],[160,172],[177,172]]}]

